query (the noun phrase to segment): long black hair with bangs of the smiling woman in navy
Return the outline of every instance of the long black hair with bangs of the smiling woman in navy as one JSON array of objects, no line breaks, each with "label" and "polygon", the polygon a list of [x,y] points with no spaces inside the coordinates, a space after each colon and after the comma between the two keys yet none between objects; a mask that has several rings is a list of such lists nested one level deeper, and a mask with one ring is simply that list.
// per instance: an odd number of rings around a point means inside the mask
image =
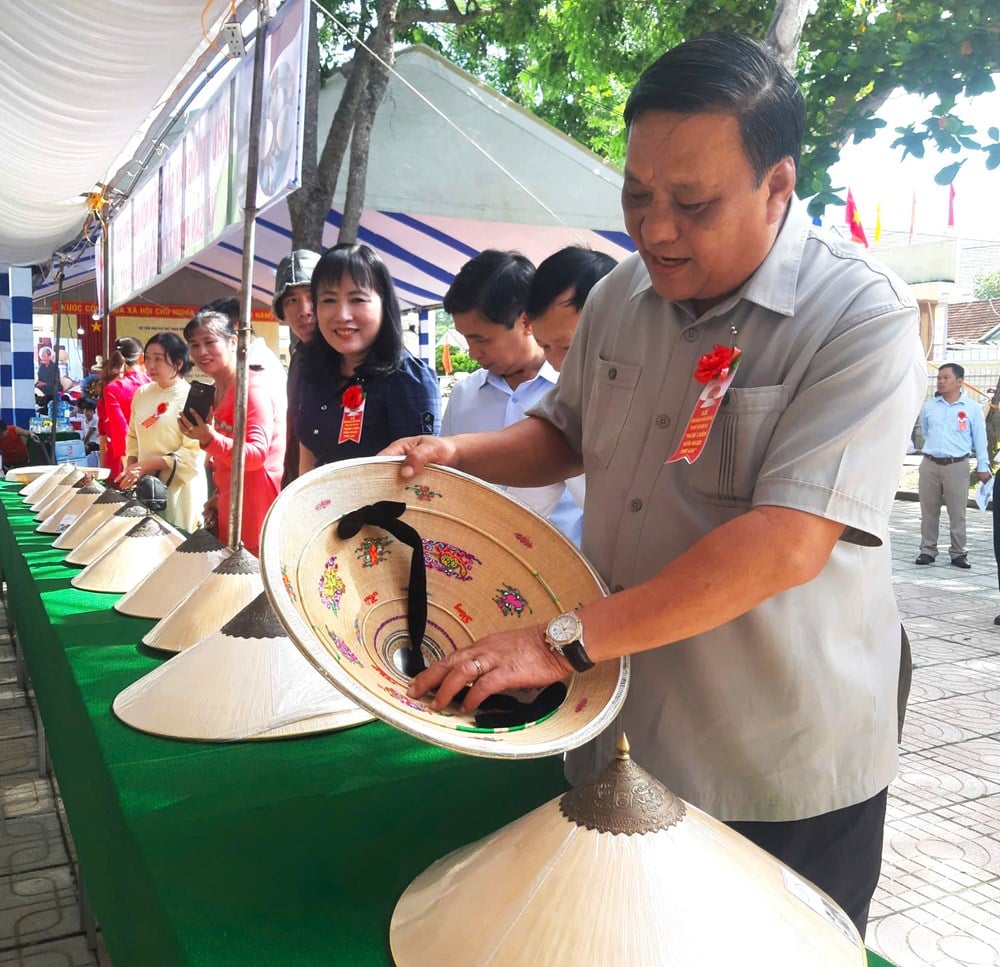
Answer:
[{"label": "long black hair with bangs of the smiling woman in navy", "polygon": [[[403,314],[389,269],[375,249],[368,245],[345,243],[323,253],[313,269],[310,283],[316,318],[319,319],[319,287],[338,285],[345,275],[349,275],[359,288],[377,293],[382,300],[382,324],[364,362],[357,369],[357,375],[362,378],[388,375],[399,369],[403,361]],[[342,357],[323,338],[322,332],[318,338],[314,336],[303,343],[299,352],[305,354],[303,365],[307,379],[342,379]]]}]

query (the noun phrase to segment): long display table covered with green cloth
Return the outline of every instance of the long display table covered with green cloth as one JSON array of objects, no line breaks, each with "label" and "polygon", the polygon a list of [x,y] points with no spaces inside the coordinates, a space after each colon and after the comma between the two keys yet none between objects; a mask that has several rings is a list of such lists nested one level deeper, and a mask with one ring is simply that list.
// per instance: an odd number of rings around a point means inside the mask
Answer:
[{"label": "long display table covered with green cloth", "polygon": [[127,728],[111,703],[161,660],[136,644],[153,622],[73,588],[19,489],[0,483],[8,609],[115,967],[389,964],[410,881],[565,788],[558,757],[474,759],[379,722],[230,745]]}]

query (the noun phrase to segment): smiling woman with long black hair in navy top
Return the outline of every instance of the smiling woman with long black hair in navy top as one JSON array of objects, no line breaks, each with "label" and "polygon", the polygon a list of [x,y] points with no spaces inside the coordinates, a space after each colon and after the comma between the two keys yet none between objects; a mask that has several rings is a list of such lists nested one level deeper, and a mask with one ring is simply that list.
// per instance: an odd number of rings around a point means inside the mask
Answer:
[{"label": "smiling woman with long black hair in navy top", "polygon": [[299,473],[371,457],[401,436],[437,434],[437,376],[403,346],[392,277],[367,245],[337,245],[312,275],[317,335],[303,354]]}]

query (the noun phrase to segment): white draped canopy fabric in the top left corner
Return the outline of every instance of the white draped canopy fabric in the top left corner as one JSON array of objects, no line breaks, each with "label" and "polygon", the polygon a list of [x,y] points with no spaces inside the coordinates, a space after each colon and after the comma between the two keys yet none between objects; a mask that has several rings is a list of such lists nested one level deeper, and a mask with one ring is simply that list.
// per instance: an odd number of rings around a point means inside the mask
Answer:
[{"label": "white draped canopy fabric in the top left corner", "polygon": [[[0,268],[72,241],[228,0],[0,0]],[[91,263],[92,264],[92,263]],[[92,271],[92,269],[91,269]]]}]

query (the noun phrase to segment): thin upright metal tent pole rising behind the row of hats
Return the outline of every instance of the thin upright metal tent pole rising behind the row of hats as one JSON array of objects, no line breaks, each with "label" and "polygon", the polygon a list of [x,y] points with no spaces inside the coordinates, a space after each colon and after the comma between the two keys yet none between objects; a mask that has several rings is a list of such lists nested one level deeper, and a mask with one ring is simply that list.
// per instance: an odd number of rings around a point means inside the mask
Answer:
[{"label": "thin upright metal tent pole rising behind the row of hats", "polygon": [[253,86],[250,94],[250,127],[247,145],[246,202],[243,208],[243,269],[240,285],[240,325],[236,343],[236,407],[233,419],[233,468],[229,495],[229,547],[241,544],[243,524],[243,468],[247,432],[247,347],[253,298],[254,239],[257,227],[257,168],[260,157],[261,100],[264,91],[264,47],[268,21],[267,0],[257,0],[257,41],[254,44]]}]

